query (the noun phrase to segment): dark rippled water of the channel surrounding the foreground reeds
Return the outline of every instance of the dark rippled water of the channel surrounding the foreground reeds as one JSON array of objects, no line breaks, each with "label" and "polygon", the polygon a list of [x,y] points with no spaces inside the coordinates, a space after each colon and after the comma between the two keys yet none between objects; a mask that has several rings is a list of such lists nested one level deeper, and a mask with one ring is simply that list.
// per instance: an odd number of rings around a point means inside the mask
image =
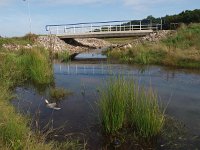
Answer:
[{"label": "dark rippled water of the channel surrounding the foreground reeds", "polygon": [[[54,128],[64,125],[62,131],[54,135],[54,139],[79,138],[87,141],[89,149],[101,149],[106,142],[101,134],[96,103],[99,89],[105,86],[106,79],[113,74],[134,77],[141,85],[156,89],[161,102],[164,105],[169,103],[166,114],[182,122],[187,129],[187,140],[180,142],[180,137],[175,139],[180,143],[177,149],[200,149],[200,71],[108,64],[106,61],[55,63],[55,87],[73,92],[59,102],[61,110],[46,107],[44,98],[49,99],[48,90],[38,92],[28,85],[16,88],[17,98],[13,104],[32,116],[39,112],[41,128],[48,122]],[[168,149],[162,144],[159,143],[156,149]]]}]

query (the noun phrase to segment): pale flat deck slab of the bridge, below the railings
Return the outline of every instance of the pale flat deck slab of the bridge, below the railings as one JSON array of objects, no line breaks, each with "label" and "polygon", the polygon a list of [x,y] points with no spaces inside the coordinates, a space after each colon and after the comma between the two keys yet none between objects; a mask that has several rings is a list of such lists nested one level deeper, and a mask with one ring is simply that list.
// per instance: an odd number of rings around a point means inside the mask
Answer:
[{"label": "pale flat deck slab of the bridge, below the railings", "polygon": [[153,30],[135,30],[135,31],[111,31],[111,32],[87,32],[80,34],[60,34],[57,35],[60,39],[69,38],[109,38],[109,37],[132,37],[145,36],[152,33]]}]

